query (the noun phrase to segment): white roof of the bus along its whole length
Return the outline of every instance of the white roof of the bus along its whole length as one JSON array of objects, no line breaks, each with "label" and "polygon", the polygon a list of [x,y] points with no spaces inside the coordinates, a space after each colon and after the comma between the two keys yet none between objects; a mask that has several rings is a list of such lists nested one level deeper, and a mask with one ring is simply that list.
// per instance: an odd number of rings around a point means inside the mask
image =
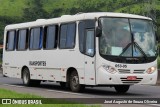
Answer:
[{"label": "white roof of the bus along its whole length", "polygon": [[151,18],[148,18],[148,17],[134,15],[134,14],[125,14],[125,13],[112,13],[112,12],[78,13],[75,15],[62,15],[61,17],[52,18],[52,19],[37,19],[36,21],[33,21],[33,22],[11,24],[11,25],[7,25],[5,30],[22,29],[27,27],[36,27],[36,26],[44,26],[44,25],[50,25],[50,24],[74,22],[74,21],[85,20],[85,19],[95,19],[102,16],[152,20]]}]

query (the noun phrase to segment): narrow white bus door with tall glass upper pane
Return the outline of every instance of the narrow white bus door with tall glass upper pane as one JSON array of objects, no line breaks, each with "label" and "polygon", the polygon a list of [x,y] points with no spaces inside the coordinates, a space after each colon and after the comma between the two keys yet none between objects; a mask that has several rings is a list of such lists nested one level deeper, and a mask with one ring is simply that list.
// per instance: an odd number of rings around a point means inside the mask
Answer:
[{"label": "narrow white bus door with tall glass upper pane", "polygon": [[85,84],[95,85],[95,31],[94,29],[85,29]]}]

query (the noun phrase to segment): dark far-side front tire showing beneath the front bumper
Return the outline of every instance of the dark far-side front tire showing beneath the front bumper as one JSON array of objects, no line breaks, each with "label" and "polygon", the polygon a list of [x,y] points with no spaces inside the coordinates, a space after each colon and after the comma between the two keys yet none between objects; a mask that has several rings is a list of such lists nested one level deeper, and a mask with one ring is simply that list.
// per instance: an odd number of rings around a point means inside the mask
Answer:
[{"label": "dark far-side front tire showing beneath the front bumper", "polygon": [[114,86],[117,93],[126,93],[129,90],[130,85],[116,85]]}]

